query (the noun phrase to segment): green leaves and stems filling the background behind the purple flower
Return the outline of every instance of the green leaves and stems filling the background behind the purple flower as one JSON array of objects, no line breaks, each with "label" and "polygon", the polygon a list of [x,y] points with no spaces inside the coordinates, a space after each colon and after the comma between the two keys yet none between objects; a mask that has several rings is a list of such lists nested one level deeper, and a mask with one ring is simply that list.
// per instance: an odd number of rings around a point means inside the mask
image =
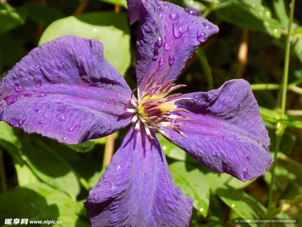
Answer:
[{"label": "green leaves and stems filling the background behind the purple flower", "polygon": [[[302,1],[295,3],[289,36],[288,0],[171,2],[197,8],[220,28],[186,64],[178,80],[188,85],[182,93],[218,88],[234,78],[249,81],[277,157],[263,177],[243,183],[207,169],[159,135],[176,185],[193,199],[190,226],[268,216],[302,222]],[[0,73],[4,76],[38,44],[73,34],[102,41],[104,57],[134,89],[138,23],[129,25],[126,7],[125,0],[1,0]],[[291,45],[285,57],[287,37]],[[284,72],[286,99],[281,95]],[[127,130],[70,146],[0,122],[0,226],[8,218],[90,226],[82,203]]]}]

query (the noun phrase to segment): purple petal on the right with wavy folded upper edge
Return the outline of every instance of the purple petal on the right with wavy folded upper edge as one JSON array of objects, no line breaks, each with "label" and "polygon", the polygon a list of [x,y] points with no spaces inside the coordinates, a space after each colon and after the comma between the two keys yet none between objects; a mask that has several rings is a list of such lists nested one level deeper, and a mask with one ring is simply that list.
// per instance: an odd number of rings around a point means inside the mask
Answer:
[{"label": "purple petal on the right with wavy folded upper edge", "polygon": [[232,80],[217,90],[182,97],[193,98],[176,103],[190,113],[178,113],[194,121],[179,126],[186,139],[167,131],[175,138],[172,143],[210,169],[242,181],[265,173],[273,162],[270,139],[247,81]]}]

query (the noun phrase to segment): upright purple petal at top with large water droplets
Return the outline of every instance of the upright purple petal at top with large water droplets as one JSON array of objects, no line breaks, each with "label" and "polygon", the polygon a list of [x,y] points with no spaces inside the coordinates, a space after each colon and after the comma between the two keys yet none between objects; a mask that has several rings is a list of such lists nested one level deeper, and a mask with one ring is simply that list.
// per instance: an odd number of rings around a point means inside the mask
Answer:
[{"label": "upright purple petal at top with large water droplets", "polygon": [[143,0],[136,54],[140,92],[151,78],[152,82],[162,76],[159,83],[177,78],[198,45],[217,32],[218,27],[198,16],[196,9]]}]

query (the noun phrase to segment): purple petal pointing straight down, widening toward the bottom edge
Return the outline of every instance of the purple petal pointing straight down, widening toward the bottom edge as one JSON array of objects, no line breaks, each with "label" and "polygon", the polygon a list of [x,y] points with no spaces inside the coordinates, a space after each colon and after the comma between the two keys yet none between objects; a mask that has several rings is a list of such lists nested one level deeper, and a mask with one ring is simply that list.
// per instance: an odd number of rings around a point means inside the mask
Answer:
[{"label": "purple petal pointing straight down, widening toward the bottom edge", "polygon": [[89,192],[84,206],[94,226],[188,226],[192,200],[172,180],[164,152],[133,127]]}]

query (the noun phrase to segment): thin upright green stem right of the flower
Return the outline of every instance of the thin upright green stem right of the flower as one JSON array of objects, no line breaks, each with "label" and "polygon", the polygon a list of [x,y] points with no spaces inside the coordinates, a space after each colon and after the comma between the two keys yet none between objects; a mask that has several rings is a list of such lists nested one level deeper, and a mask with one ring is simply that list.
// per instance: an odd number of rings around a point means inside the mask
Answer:
[{"label": "thin upright green stem right of the flower", "polygon": [[[291,25],[293,23],[294,18],[294,5],[295,0],[291,0],[290,5],[290,20],[288,24],[288,34],[286,37],[286,47],[285,47],[285,56],[284,56],[284,71],[283,71],[283,84],[282,84],[282,96],[281,96],[281,115],[280,119],[284,118],[285,115],[285,104],[286,104],[286,94],[288,88],[288,67],[289,67],[289,57],[290,57],[290,42],[291,42]],[[272,174],[271,174],[271,183],[269,186],[269,194],[268,194],[268,212],[267,217],[273,217],[271,214],[272,210],[272,198],[273,198],[273,186],[275,183],[275,169],[277,166],[278,161],[278,151],[280,148],[281,138],[284,133],[285,126],[281,123],[277,123],[277,130],[276,130],[276,147],[275,147],[275,163],[272,166]]]}]

